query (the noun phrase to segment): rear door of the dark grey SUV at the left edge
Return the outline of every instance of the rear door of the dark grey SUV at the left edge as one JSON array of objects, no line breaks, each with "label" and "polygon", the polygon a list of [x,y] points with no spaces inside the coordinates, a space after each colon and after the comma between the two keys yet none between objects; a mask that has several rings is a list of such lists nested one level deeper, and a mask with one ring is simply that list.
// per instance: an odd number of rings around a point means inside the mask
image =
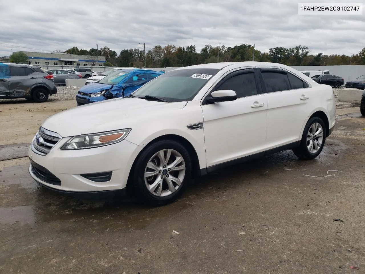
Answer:
[{"label": "rear door of the dark grey SUV at the left edge", "polygon": [[11,96],[29,96],[28,89],[37,83],[38,72],[24,66],[11,66],[9,94]]}]

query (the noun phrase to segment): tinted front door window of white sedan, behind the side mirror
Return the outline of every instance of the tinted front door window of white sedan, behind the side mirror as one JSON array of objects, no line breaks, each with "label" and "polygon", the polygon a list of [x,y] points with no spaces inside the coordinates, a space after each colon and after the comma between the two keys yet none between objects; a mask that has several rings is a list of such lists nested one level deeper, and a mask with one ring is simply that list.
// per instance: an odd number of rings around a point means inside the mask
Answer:
[{"label": "tinted front door window of white sedan, behind the side mirror", "polygon": [[237,98],[257,94],[255,75],[253,72],[235,75],[225,80],[215,90],[234,90]]}]

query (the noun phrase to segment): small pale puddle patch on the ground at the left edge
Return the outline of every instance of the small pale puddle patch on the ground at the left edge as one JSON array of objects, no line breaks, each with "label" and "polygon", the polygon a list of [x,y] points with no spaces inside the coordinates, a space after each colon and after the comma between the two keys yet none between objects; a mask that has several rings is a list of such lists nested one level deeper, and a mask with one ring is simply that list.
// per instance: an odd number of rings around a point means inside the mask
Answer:
[{"label": "small pale puddle patch on the ground at the left edge", "polygon": [[33,224],[34,212],[31,206],[15,206],[14,208],[0,208],[0,224]]}]

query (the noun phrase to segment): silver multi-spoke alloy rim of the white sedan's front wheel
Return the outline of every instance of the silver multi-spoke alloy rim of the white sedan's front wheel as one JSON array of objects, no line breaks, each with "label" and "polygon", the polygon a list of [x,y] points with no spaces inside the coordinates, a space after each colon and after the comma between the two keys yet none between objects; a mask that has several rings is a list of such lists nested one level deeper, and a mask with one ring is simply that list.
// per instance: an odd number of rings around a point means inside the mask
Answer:
[{"label": "silver multi-spoke alloy rim of the white sedan's front wheel", "polygon": [[146,165],[146,187],[155,196],[168,196],[181,186],[185,172],[183,156],[174,149],[162,149],[155,153]]}]

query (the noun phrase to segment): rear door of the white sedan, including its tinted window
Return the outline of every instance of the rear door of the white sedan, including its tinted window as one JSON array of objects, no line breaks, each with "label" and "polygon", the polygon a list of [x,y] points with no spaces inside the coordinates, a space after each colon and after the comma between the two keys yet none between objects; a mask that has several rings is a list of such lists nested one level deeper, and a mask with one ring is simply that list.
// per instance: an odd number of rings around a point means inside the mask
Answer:
[{"label": "rear door of the white sedan, including its tinted window", "polygon": [[299,141],[301,129],[315,108],[315,93],[296,75],[278,68],[260,68],[268,100],[266,149]]}]

